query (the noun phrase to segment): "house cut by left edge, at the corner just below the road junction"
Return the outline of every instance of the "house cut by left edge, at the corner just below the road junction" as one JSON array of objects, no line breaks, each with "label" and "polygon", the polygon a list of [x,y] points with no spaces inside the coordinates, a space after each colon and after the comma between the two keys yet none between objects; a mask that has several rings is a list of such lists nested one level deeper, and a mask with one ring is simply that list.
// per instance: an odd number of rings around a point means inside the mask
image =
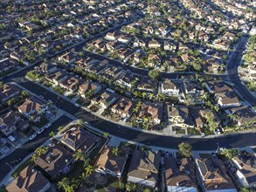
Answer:
[{"label": "house cut by left edge, at the corner just below the road junction", "polygon": [[18,93],[20,93],[20,89],[17,86],[4,84],[0,87],[0,103],[5,104],[7,100],[17,96]]}]

